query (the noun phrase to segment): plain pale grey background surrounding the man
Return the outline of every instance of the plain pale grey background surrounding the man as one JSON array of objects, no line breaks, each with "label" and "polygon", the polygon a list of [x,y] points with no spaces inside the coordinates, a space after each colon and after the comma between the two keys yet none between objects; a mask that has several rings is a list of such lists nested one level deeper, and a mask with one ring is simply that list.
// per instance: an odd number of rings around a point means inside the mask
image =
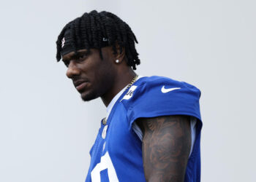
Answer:
[{"label": "plain pale grey background surrounding the man", "polygon": [[137,73],[200,88],[202,181],[255,181],[255,0],[1,1],[0,181],[84,181],[106,111],[56,63],[56,38],[93,9],[138,38]]}]

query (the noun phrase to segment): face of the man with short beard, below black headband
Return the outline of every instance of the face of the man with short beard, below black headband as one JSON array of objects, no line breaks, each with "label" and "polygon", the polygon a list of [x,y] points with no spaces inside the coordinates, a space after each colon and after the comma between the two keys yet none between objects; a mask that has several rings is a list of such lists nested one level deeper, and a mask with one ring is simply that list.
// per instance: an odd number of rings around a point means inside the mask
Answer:
[{"label": "face of the man with short beard, below black headband", "polygon": [[67,77],[80,92],[85,101],[102,97],[113,86],[115,77],[115,60],[111,47],[102,48],[103,59],[99,56],[99,50],[78,50],[78,53],[70,52],[64,55],[62,60],[67,66]]}]

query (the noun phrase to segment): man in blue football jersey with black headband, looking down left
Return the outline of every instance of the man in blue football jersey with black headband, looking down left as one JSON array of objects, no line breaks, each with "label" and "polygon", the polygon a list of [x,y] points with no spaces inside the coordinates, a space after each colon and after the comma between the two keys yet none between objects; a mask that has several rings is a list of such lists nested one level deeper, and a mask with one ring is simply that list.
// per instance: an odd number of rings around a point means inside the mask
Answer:
[{"label": "man in blue football jersey with black headband, looking down left", "polygon": [[107,106],[86,181],[200,181],[200,90],[137,76],[135,42],[127,23],[97,11],[65,25],[56,41],[81,98]]}]

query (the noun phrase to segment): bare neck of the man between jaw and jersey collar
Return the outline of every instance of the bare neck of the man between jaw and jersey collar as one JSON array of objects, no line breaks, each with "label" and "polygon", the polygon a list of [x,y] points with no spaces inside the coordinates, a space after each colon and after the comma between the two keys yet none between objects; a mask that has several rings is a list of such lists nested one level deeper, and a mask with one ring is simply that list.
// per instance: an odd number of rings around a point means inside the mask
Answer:
[{"label": "bare neck of the man between jaw and jersey collar", "polygon": [[105,93],[105,95],[102,95],[102,102],[106,107],[108,107],[108,104],[111,102],[111,100],[120,92],[124,87],[127,86],[130,82],[132,82],[132,79],[136,76],[135,72],[132,70],[132,68],[129,68],[128,71],[123,72],[122,74],[119,73],[118,76],[115,77],[113,80],[113,87],[110,88],[108,92]]}]

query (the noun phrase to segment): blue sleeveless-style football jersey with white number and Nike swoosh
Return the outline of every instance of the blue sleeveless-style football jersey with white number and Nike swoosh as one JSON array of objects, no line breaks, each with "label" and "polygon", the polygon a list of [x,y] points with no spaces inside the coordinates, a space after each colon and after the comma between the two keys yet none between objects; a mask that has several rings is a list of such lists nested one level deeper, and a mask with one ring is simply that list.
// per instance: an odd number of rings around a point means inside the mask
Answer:
[{"label": "blue sleeveless-style football jersey with white number and Nike swoosh", "polygon": [[113,106],[107,124],[101,124],[86,182],[143,182],[142,143],[132,130],[140,117],[187,115],[197,118],[195,143],[187,163],[185,181],[200,181],[200,90],[186,82],[151,76],[138,79]]}]

